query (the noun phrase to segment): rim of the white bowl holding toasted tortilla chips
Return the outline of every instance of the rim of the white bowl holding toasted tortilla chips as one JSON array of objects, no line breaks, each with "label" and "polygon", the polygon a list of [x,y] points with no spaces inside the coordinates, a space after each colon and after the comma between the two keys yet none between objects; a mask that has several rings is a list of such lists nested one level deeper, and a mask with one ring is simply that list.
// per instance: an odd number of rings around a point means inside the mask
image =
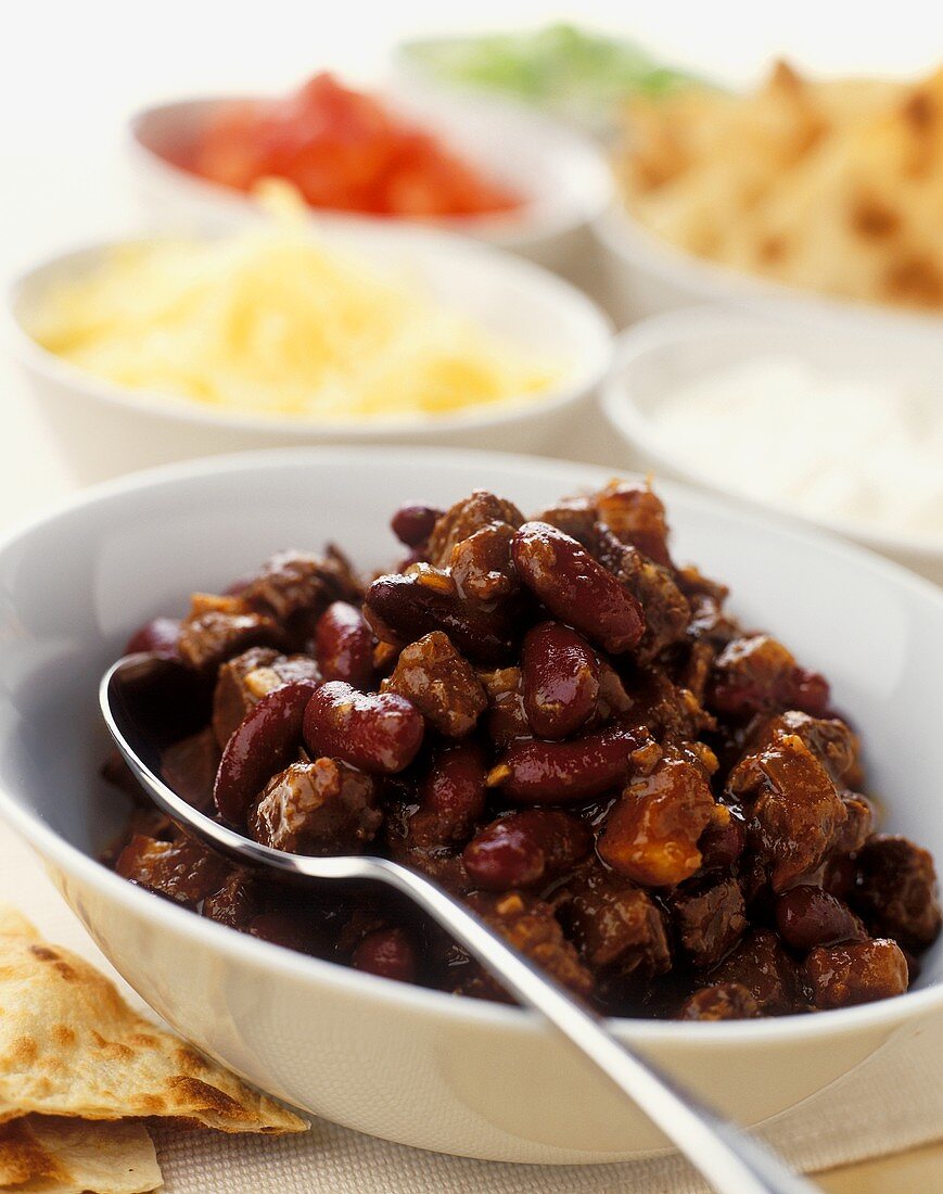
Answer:
[{"label": "rim of the white bowl holding toasted tortilla chips", "polygon": [[844,298],[825,291],[788,285],[758,273],[697,257],[647,228],[616,196],[592,221],[593,235],[633,271],[657,275],[671,285],[696,293],[690,302],[750,303],[796,320],[828,319],[910,330],[939,338],[943,310],[911,310],[906,307]]}]

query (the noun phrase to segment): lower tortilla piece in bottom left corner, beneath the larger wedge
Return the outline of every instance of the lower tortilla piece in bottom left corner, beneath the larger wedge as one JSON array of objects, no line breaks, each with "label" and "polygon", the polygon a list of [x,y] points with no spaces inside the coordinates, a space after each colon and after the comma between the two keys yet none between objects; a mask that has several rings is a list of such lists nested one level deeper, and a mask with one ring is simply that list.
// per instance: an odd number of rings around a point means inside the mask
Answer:
[{"label": "lower tortilla piece in bottom left corner, beneath the larger wedge", "polygon": [[154,1144],[135,1120],[27,1115],[0,1127],[0,1189],[11,1194],[143,1194],[162,1184]]}]

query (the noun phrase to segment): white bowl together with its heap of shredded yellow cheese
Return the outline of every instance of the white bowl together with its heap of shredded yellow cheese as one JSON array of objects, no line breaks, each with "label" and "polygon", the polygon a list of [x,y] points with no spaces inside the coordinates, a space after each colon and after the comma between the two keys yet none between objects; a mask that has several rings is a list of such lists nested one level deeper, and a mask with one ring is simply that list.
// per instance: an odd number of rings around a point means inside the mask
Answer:
[{"label": "white bowl together with its heap of shredded yellow cheese", "polygon": [[78,250],[21,276],[11,313],[82,480],[352,439],[551,451],[611,351],[538,266],[357,220]]}]

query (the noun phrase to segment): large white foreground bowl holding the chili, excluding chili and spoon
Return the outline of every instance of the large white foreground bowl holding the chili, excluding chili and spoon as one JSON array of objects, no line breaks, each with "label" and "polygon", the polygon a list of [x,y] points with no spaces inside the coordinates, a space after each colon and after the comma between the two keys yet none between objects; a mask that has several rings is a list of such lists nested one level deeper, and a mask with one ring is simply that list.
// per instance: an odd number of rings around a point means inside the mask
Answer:
[{"label": "large white foreground bowl holding the chili, excluding chili and spoon", "polygon": [[[93,861],[124,804],[97,781],[97,681],[128,632],[273,548],[329,537],[395,556],[403,499],[486,486],[537,509],[609,473],[526,457],[363,448],[248,454],[103,486],[0,544],[0,811],[121,973],[185,1036],[309,1112],[425,1149],[600,1162],[664,1141],[531,1015],[378,979],[240,935]],[[833,681],[888,824],[943,857],[943,593],[857,548],[664,487],[676,554],[733,586],[750,626]],[[756,1124],[892,1035],[939,1027],[943,947],[918,989],[865,1007],[741,1023],[621,1020],[616,1032]]]}]

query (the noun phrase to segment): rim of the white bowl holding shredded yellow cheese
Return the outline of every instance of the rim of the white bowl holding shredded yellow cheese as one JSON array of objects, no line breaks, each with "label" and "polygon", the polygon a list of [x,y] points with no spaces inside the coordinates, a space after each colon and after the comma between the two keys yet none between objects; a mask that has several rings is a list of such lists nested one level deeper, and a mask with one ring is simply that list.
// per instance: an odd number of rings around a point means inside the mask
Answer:
[{"label": "rim of the white bowl holding shredded yellow cheese", "polygon": [[[184,239],[211,241],[226,235],[224,232],[199,232]],[[43,257],[17,272],[7,283],[2,310],[12,356],[31,374],[67,387],[81,394],[82,398],[106,402],[119,410],[137,411],[155,418],[197,424],[204,427],[223,427],[229,431],[257,432],[300,441],[309,441],[312,436],[321,435],[334,439],[369,442],[376,436],[408,435],[421,438],[500,427],[522,418],[526,419],[529,416],[541,416],[578,404],[587,393],[598,389],[609,371],[615,333],[615,324],[611,318],[578,287],[534,261],[498,246],[458,236],[454,233],[420,226],[396,228],[359,217],[332,220],[329,226],[319,227],[316,235],[319,238],[323,235],[328,245],[343,241],[341,251],[368,259],[369,242],[372,239],[375,242],[386,241],[394,248],[401,248],[405,256],[415,254],[427,263],[438,258],[439,263],[448,260],[450,265],[457,261],[460,267],[461,264],[485,264],[494,273],[497,281],[516,275],[534,291],[542,289],[544,295],[557,304],[561,322],[579,322],[587,333],[585,337],[587,341],[594,340],[596,343],[587,343],[588,351],[584,351],[583,359],[578,359],[573,368],[565,371],[559,382],[532,396],[516,394],[498,402],[471,405],[467,410],[433,417],[338,419],[318,423],[304,418],[271,418],[248,411],[217,410],[183,395],[119,386],[107,378],[99,377],[91,370],[64,361],[55,352],[44,349],[35,339],[23,322],[20,308],[25,293],[32,287],[41,287],[43,284],[41,278],[44,275],[68,275],[81,269],[82,263],[92,263],[105,253],[125,246],[180,240],[179,236],[159,232],[150,235],[130,235],[113,240],[80,242]],[[357,244],[359,236],[363,236],[366,242],[363,247]],[[438,269],[438,266],[433,266],[433,269]]]}]

